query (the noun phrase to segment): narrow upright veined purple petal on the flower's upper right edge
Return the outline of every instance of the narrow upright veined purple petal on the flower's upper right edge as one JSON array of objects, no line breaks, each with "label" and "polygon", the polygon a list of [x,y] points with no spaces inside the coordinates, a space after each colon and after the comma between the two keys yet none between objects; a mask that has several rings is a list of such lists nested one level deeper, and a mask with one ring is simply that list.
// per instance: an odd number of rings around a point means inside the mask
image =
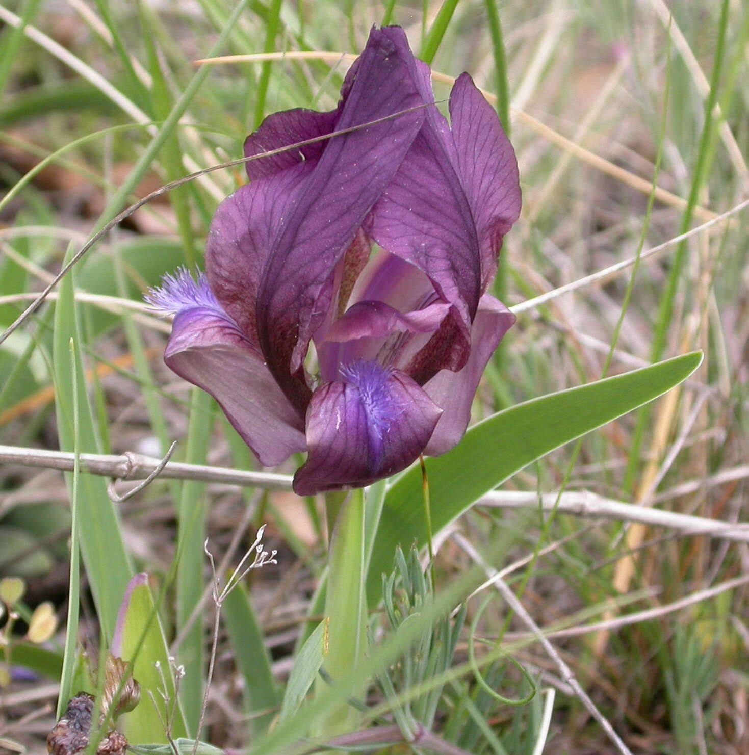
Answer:
[{"label": "narrow upright veined purple petal on the flower's upper right edge", "polygon": [[520,214],[517,159],[497,113],[467,73],[450,93],[450,119],[455,166],[479,234],[485,290],[497,271],[502,236]]}]

